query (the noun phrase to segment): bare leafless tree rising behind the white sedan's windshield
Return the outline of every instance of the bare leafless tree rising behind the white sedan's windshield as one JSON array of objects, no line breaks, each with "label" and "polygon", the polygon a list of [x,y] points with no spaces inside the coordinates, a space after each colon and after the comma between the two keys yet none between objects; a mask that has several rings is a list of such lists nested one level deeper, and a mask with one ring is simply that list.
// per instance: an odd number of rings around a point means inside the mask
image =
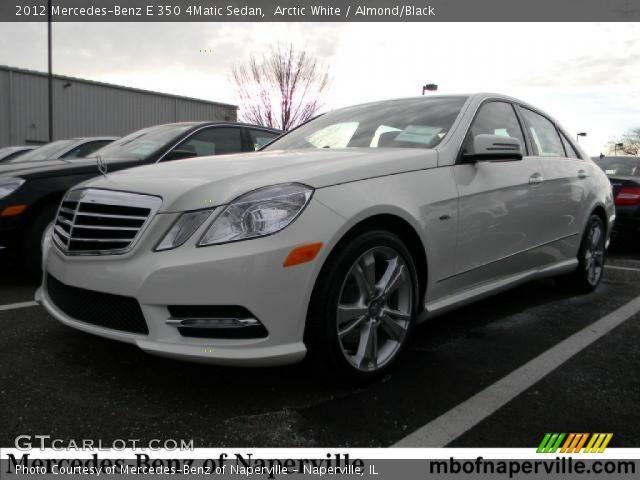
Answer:
[{"label": "bare leafless tree rising behind the white sedan's windshield", "polygon": [[329,73],[305,51],[277,46],[268,55],[236,65],[233,81],[245,122],[287,131],[318,113]]}]

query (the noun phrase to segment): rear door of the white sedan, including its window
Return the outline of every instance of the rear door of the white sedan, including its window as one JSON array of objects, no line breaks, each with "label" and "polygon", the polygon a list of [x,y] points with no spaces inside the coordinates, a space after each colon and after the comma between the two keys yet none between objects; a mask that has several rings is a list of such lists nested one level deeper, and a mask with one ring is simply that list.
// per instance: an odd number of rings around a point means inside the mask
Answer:
[{"label": "rear door of the white sedan, including its window", "polygon": [[590,168],[551,120],[525,107],[520,112],[544,177],[539,189],[545,235],[541,240],[548,246],[548,260],[561,260],[575,253],[582,232],[581,206]]}]

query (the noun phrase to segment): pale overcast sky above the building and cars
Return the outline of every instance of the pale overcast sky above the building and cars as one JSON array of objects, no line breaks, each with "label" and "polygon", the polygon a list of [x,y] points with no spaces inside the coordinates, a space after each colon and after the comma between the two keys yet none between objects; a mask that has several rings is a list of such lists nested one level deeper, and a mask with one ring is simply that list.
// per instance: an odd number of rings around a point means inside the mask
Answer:
[{"label": "pale overcast sky above the building and cars", "polygon": [[[640,24],[56,23],[54,72],[237,103],[234,63],[293,42],[330,68],[325,109],[491,91],[557,118],[597,155],[640,126]],[[201,53],[201,50],[210,52]],[[0,64],[46,70],[46,24],[0,23]]]}]

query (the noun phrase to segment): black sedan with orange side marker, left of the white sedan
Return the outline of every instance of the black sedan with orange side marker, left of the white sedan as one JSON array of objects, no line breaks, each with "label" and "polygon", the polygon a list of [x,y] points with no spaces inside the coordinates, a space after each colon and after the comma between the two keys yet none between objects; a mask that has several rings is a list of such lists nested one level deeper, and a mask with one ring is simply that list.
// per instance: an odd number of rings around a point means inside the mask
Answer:
[{"label": "black sedan with orange side marker, left of the white sedan", "polygon": [[[165,162],[199,155],[254,150],[280,132],[251,125],[189,122],[158,125],[123,137],[94,155],[104,171]],[[111,141],[113,139],[110,139]],[[41,271],[42,235],[55,217],[64,193],[75,184],[99,175],[96,158],[75,158],[69,145],[56,160],[45,149],[61,151],[53,142],[8,164],[0,165],[0,250],[14,252],[28,273]],[[78,155],[76,155],[78,156]],[[171,179],[165,179],[171,181]]]}]

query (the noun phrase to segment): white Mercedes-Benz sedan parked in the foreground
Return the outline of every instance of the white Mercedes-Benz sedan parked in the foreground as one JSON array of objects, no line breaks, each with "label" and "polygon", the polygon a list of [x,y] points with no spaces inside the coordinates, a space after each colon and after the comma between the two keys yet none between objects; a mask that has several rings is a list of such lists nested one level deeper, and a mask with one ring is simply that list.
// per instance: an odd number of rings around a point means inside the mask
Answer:
[{"label": "white Mercedes-Benz sedan parked in the foreground", "polygon": [[66,325],[159,355],[308,354],[366,378],[453,307],[544,276],[593,290],[613,221],[604,172],[536,108],[493,94],[383,101],[251,155],[74,187],[38,298]]}]

